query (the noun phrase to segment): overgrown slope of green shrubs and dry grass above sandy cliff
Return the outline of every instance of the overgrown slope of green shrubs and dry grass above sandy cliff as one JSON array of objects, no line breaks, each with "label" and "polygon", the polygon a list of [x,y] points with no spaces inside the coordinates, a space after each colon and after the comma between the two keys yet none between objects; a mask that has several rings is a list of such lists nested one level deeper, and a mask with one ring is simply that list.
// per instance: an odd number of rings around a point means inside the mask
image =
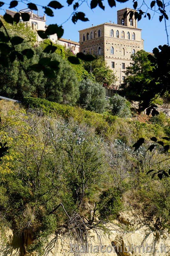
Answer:
[{"label": "overgrown slope of green shrubs and dry grass above sandy cliff", "polygon": [[[170,228],[170,181],[146,174],[168,170],[169,154],[133,143],[161,138],[167,125],[139,123],[47,100],[0,101],[0,230],[32,237],[27,251],[43,253],[52,233],[86,241],[119,212],[137,209],[158,232]],[[167,120],[166,120],[167,121]],[[167,127],[166,127],[167,128]],[[124,201],[123,198],[126,198]],[[107,230],[106,230],[107,232]]]}]

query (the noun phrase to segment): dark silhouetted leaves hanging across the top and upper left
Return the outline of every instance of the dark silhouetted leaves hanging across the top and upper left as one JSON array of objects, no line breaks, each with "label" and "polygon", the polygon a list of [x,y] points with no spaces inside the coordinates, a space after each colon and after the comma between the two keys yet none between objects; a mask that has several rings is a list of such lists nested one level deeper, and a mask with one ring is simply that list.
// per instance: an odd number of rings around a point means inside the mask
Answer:
[{"label": "dark silhouetted leaves hanging across the top and upper left", "polygon": [[[128,0],[116,0],[117,2],[127,2]],[[116,1],[115,0],[108,0],[108,4],[110,7],[116,6]],[[11,1],[9,8],[16,8],[18,6],[18,2],[19,1]],[[21,0],[21,2],[23,2]],[[28,1],[26,1],[28,2]],[[74,2],[74,4],[73,4]],[[153,10],[153,12],[155,13],[160,13],[160,17],[159,20],[161,21],[163,18],[165,19],[165,21],[168,19],[168,16],[166,14],[166,8],[168,6],[168,4],[164,3],[164,1],[160,1],[160,0],[156,0],[156,1],[152,1],[150,6],[148,6],[145,2],[143,2],[143,4],[141,5],[140,8],[137,8],[137,1],[133,1],[133,7],[134,9],[136,9],[136,12],[130,11],[129,13],[125,13],[124,16],[129,15],[130,18],[134,17],[135,19],[140,20],[142,18],[142,16],[144,15],[144,17],[148,17],[149,19],[151,18],[151,14],[147,11],[144,12],[141,10],[141,8],[145,5],[147,6],[147,8],[151,11],[152,8],[154,7],[155,9]],[[70,17],[72,17],[72,21],[73,23],[76,23],[78,20],[82,20],[82,21],[87,21],[88,18],[85,18],[85,13],[84,12],[77,12],[78,8],[80,8],[80,6],[85,3],[86,1],[83,0],[81,1],[81,3],[75,2],[74,0],[67,0],[67,4],[68,5],[72,5],[73,4],[73,12],[70,15]],[[0,2],[0,7],[4,6],[4,2]],[[44,12],[48,15],[53,17],[54,16],[54,12],[53,9],[58,9],[60,10],[61,8],[63,8],[64,6],[62,4],[60,4],[58,1],[51,1],[49,2],[49,4],[47,4],[46,6],[42,6],[40,4],[35,4],[35,3],[27,3],[27,7],[32,9],[32,10],[38,10],[37,6],[41,6],[44,10]],[[97,6],[99,6],[101,9],[105,9],[105,6],[103,5],[103,2],[101,0],[91,0],[90,2],[90,7],[91,9],[96,8]],[[156,8],[157,6],[157,8]],[[9,24],[13,24],[13,23],[18,23],[20,20],[20,16],[22,18],[23,21],[29,21],[30,19],[30,15],[27,12],[17,12],[15,13],[15,15],[12,17],[10,14],[5,13],[4,14],[4,20],[9,23]],[[0,22],[0,28],[4,26],[2,22]],[[4,26],[5,29],[5,26]],[[60,38],[63,36],[63,28],[62,25],[57,25],[57,24],[50,24],[47,29],[45,31],[43,30],[38,30],[37,33],[38,35],[42,38],[42,39],[47,39],[49,35],[53,35],[53,34],[57,34],[57,37]],[[167,32],[167,30],[166,30]],[[17,37],[17,38],[10,38],[9,35],[5,35],[4,33],[0,33],[0,51],[1,51],[1,56],[0,56],[0,63],[2,65],[6,65],[6,67],[8,66],[8,59],[12,62],[14,61],[16,58],[18,58],[18,60],[20,61],[20,65],[22,67],[22,62],[24,61],[23,55],[25,55],[27,58],[33,55],[33,53],[31,53],[31,50],[28,49],[27,51],[25,50],[25,52],[17,52],[15,51],[15,45],[16,44],[21,44],[23,42],[22,38]],[[9,44],[10,43],[10,46]],[[53,45],[52,45],[53,46]],[[50,48],[51,52],[54,50],[52,49],[52,46]],[[49,51],[49,46],[48,49],[46,51]],[[10,55],[10,58],[9,58]],[[6,58],[7,57],[7,58]],[[79,54],[79,56],[74,57],[74,56],[70,56],[69,57],[69,61],[71,63],[74,64],[79,64],[79,59],[81,60],[85,60],[85,61],[91,61],[91,57],[88,56],[84,56],[83,53]],[[49,62],[48,64],[51,65],[51,63]],[[37,66],[34,68],[36,69],[37,72],[43,71],[45,72],[46,76],[49,77],[54,77],[54,66],[50,67],[47,64],[47,66],[44,68],[44,66],[42,67],[42,63],[37,63]],[[26,70],[24,70],[26,75],[27,72]],[[29,77],[28,77],[29,79]]]}]

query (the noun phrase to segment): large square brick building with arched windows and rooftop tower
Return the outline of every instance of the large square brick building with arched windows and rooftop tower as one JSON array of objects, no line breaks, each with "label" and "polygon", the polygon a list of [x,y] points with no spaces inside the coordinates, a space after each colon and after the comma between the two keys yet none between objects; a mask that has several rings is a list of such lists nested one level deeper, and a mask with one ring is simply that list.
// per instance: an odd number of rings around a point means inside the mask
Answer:
[{"label": "large square brick building with arched windows and rooftop tower", "polygon": [[117,24],[103,23],[91,28],[79,30],[80,52],[85,54],[102,55],[107,66],[113,69],[117,82],[117,89],[125,78],[124,71],[130,65],[131,54],[144,48],[141,30],[137,28],[137,20],[124,19],[123,14],[133,9],[124,8],[117,11]]}]

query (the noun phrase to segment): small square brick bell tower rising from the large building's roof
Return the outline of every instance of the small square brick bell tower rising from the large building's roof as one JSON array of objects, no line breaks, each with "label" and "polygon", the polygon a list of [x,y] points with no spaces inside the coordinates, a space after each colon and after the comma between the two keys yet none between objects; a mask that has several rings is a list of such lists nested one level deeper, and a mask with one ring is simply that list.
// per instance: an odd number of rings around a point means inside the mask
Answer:
[{"label": "small square brick bell tower rising from the large building's roof", "polygon": [[136,12],[134,9],[130,9],[130,8],[124,8],[124,9],[118,10],[117,11],[117,24],[124,25],[127,27],[137,28],[137,20],[135,20],[134,16],[133,16],[133,18],[130,19],[130,16],[128,14],[128,16],[125,19],[123,18],[123,14],[126,11],[127,12],[130,12],[130,11]]}]

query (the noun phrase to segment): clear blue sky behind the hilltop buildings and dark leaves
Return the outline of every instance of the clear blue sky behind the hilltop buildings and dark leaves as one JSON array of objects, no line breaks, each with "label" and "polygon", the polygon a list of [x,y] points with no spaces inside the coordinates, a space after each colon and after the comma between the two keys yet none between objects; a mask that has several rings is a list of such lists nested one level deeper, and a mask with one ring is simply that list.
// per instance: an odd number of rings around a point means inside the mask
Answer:
[{"label": "clear blue sky behind the hilltop buildings and dark leaves", "polygon": [[[105,5],[105,11],[103,11],[99,7],[96,7],[95,9],[91,10],[90,7],[87,5],[87,3],[90,5],[90,0],[86,0],[86,2],[84,2],[79,7],[78,11],[85,12],[86,17],[89,19],[89,21],[83,22],[78,20],[76,24],[73,24],[73,22],[71,21],[71,18],[67,22],[65,22],[73,12],[73,6],[72,5],[68,6],[68,4],[66,3],[66,0],[58,0],[58,1],[64,7],[60,10],[54,10],[54,14],[55,14],[54,17],[49,17],[46,15],[46,20],[47,20],[46,24],[47,25],[52,23],[56,23],[57,25],[63,24],[63,28],[64,28],[63,38],[70,39],[76,42],[79,41],[78,30],[91,27],[92,24],[95,26],[105,22],[109,22],[109,20],[111,20],[116,24],[117,10],[123,9],[125,7],[133,8],[133,3],[131,0],[122,4],[116,2],[116,7],[113,7],[113,8],[110,8],[107,3],[107,0],[104,0],[103,4]],[[43,15],[44,11],[41,6],[47,5],[50,2],[50,0],[48,1],[47,0],[41,0],[41,1],[40,0],[32,0],[32,1],[22,0],[22,3],[20,2],[18,4],[17,10],[26,8],[27,5],[25,5],[25,2],[26,3],[33,2],[39,5],[38,6],[39,15]],[[79,1],[79,2],[82,2],[82,1]],[[146,2],[148,4],[150,3],[150,1],[148,0],[146,0]],[[138,1],[138,3],[140,3],[140,0]],[[3,6],[4,9],[8,9],[8,7],[9,5],[6,5],[6,4]],[[146,7],[144,7],[143,9],[145,10]],[[12,10],[16,11],[16,9],[12,9]],[[167,44],[164,20],[162,20],[162,22],[159,22],[159,14],[156,14],[156,13],[154,14],[152,11],[150,13],[151,13],[151,20],[148,20],[148,18],[142,18],[142,20],[140,20],[137,25],[138,28],[142,29],[142,39],[144,39],[144,50],[147,52],[152,52],[152,49],[154,47]],[[4,10],[0,10],[0,14],[4,14]],[[167,14],[169,15],[169,9],[167,10]],[[168,29],[168,34],[170,35],[169,21],[167,21],[167,29]]]}]

